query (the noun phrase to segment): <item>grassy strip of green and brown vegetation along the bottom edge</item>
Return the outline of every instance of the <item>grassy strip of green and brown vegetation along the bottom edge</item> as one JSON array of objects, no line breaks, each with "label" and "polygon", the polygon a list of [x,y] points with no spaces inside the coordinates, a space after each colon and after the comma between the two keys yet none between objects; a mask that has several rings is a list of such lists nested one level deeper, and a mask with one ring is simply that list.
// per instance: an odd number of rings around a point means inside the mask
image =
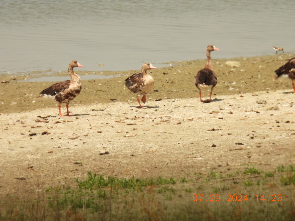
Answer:
[{"label": "grassy strip of green and brown vegetation along the bottom edge", "polygon": [[186,177],[117,178],[89,171],[71,186],[1,197],[0,220],[294,220],[294,166]]}]

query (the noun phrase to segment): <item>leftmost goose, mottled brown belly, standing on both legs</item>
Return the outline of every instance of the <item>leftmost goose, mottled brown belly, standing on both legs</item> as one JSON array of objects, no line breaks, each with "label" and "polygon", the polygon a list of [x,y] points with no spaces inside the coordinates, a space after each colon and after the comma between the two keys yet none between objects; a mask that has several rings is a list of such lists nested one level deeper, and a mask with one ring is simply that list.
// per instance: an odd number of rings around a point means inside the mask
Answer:
[{"label": "leftmost goose, mottled brown belly, standing on both legs", "polygon": [[58,115],[61,117],[65,117],[61,114],[60,111],[60,105],[62,103],[66,104],[66,116],[73,116],[69,115],[69,102],[76,98],[76,96],[80,93],[82,89],[81,78],[79,77],[79,75],[74,73],[74,67],[83,67],[83,65],[80,65],[77,61],[71,61],[68,69],[71,80],[65,80],[51,85],[49,88],[42,90],[40,93],[42,95],[38,97],[55,99],[58,102]]}]

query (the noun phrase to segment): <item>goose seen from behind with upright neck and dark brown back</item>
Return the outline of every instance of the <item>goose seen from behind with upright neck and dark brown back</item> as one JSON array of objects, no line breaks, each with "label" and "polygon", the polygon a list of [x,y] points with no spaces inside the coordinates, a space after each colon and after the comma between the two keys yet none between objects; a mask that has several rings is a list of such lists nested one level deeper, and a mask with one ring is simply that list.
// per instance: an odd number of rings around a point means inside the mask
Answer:
[{"label": "goose seen from behind with upright neck and dark brown back", "polygon": [[[208,45],[207,46],[207,63],[206,65],[199,70],[199,72],[195,76],[195,85],[199,89],[199,94],[200,94],[200,101],[201,102],[211,102],[211,96],[212,96],[212,91],[215,85],[217,84],[217,76],[215,72],[213,71],[212,67],[212,60],[210,56],[210,52],[219,50],[218,48],[214,47],[213,45]],[[207,88],[209,85],[212,85],[211,87],[211,92],[210,92],[210,99],[209,100],[202,100],[201,97],[201,88]],[[201,88],[200,88],[201,86]]]}]

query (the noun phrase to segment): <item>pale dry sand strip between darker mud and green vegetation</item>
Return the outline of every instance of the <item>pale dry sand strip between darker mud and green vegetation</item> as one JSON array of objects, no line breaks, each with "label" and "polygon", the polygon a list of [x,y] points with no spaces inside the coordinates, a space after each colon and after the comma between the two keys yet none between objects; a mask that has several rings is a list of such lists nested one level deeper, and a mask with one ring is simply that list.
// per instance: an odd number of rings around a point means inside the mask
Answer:
[{"label": "pale dry sand strip between darker mud and green vegetation", "polygon": [[[2,194],[25,177],[43,188],[86,171],[118,177],[179,177],[194,171],[271,170],[294,164],[294,94],[285,91],[133,103],[75,105],[1,114]],[[50,116],[50,117],[47,117]],[[100,155],[105,151],[106,155]],[[81,161],[81,166],[74,163]],[[32,169],[27,169],[33,166]],[[8,184],[8,186],[6,186]],[[39,188],[40,188],[39,187]]]}]

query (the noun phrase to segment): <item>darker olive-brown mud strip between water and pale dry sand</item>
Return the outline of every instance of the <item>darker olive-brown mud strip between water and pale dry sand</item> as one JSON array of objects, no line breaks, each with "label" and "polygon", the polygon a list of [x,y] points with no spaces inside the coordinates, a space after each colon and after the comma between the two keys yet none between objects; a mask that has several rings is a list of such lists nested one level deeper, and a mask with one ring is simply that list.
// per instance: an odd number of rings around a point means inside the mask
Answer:
[{"label": "darker olive-brown mud strip between water and pale dry sand", "polygon": [[[291,81],[281,78],[274,81],[274,70],[295,55],[266,55],[261,57],[237,57],[232,59],[214,59],[212,53],[214,71],[217,73],[218,83],[214,88],[212,98],[219,95],[231,95],[238,93],[252,93],[255,91],[292,90]],[[227,66],[225,62],[235,61],[240,67]],[[82,62],[82,61],[81,61]],[[194,76],[200,70],[206,60],[191,60],[172,62],[171,67],[162,67],[149,71],[153,76],[155,85],[147,99],[189,98],[198,97],[198,90],[194,85]],[[139,67],[140,68],[140,67]],[[55,107],[53,100],[35,99],[40,91],[55,82],[29,82],[25,79],[40,76],[40,73],[0,75],[1,104],[0,113],[22,112],[38,108]],[[92,103],[128,102],[136,104],[135,96],[124,88],[124,80],[127,76],[138,70],[127,71],[83,71],[75,70],[78,75],[119,75],[109,79],[82,80],[83,88],[80,95],[70,105],[89,105]],[[163,74],[165,73],[165,74]],[[46,76],[68,76],[66,71],[53,72]],[[68,76],[68,79],[70,77]],[[204,94],[204,96],[206,96]],[[206,98],[206,97],[205,97]],[[112,100],[111,100],[112,99]]]}]

